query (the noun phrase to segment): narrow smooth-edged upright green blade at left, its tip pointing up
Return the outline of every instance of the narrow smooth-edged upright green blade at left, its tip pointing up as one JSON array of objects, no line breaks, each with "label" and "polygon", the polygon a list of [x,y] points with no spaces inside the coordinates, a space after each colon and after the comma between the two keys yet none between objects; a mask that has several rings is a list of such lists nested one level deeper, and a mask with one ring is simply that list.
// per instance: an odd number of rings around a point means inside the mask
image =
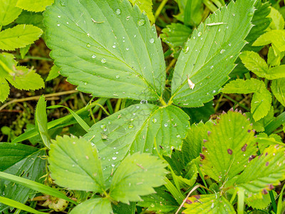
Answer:
[{"label": "narrow smooth-edged upright green blade at left, its tip pointing up", "polygon": [[48,118],[46,116],[46,101],[44,96],[39,98],[36,105],[35,123],[44,145],[47,148],[51,148],[51,137],[48,135]]}]

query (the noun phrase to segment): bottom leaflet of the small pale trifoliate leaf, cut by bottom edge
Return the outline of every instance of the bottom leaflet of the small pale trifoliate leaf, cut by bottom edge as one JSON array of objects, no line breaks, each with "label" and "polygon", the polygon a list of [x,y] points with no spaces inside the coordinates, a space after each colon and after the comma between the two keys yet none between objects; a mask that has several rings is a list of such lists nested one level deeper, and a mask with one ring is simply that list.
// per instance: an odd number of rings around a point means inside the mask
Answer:
[{"label": "bottom leaflet of the small pale trifoliate leaf, cut by bottom edge", "polygon": [[86,200],[71,211],[71,214],[78,213],[110,214],[113,213],[113,209],[108,198],[93,198]]}]

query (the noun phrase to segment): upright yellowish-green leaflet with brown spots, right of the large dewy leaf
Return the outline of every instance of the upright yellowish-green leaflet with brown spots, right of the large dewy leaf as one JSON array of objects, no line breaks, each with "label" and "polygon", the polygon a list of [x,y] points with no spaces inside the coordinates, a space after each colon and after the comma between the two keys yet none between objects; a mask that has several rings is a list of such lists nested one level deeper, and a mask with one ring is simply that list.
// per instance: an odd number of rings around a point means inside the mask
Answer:
[{"label": "upright yellowish-green leaflet with brown spots, right of the large dewy leaf", "polygon": [[249,158],[256,154],[254,131],[241,113],[223,114],[208,132],[203,144],[202,171],[223,183],[244,170]]}]

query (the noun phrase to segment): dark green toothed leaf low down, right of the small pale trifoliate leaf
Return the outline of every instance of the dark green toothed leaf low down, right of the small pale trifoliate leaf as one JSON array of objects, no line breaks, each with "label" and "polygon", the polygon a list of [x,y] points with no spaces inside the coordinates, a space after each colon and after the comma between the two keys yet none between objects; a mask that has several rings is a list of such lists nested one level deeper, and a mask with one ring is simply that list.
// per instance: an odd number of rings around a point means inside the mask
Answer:
[{"label": "dark green toothed leaf low down, right of the small pale trifoliate leaf", "polygon": [[162,213],[168,213],[172,210],[177,210],[179,204],[172,197],[170,193],[167,192],[167,188],[164,186],[160,188],[155,188],[155,192],[151,195],[142,196],[142,200],[137,203],[142,208],[147,208],[150,211],[159,211]]}]

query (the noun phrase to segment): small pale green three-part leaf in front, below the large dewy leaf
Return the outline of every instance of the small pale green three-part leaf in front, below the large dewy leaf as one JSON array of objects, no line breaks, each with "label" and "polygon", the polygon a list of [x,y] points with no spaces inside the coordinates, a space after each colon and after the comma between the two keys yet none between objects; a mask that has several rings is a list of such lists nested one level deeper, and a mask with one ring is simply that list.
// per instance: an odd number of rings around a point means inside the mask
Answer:
[{"label": "small pale green three-part leaf in front, below the large dewy leaf", "polygon": [[[57,137],[51,145],[48,162],[51,176],[58,185],[73,190],[89,190],[103,193],[106,198],[90,199],[78,206],[79,210],[91,212],[93,208],[110,213],[110,198],[129,203],[140,200],[140,195],[155,193],[153,187],[165,183],[165,163],[147,153],[127,156],[110,178],[103,175],[101,160],[95,146],[84,138]],[[115,160],[116,157],[113,157]],[[60,162],[58,162],[61,160]],[[114,167],[109,159],[109,165]],[[108,178],[107,180],[105,180]],[[109,190],[108,190],[109,189]],[[108,190],[108,193],[106,192]],[[97,209],[96,209],[97,211]]]}]

